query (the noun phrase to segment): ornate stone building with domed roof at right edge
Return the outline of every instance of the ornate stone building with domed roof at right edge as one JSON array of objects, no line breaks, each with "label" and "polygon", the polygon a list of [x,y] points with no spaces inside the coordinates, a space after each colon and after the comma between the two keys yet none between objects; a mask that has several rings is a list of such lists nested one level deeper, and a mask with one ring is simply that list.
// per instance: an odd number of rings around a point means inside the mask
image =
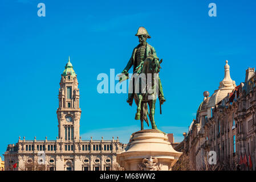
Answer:
[{"label": "ornate stone building with domed roof at right edge", "polygon": [[[255,170],[255,70],[247,69],[245,82],[236,86],[235,81],[231,80],[229,69],[226,61],[224,80],[211,97],[209,92],[204,92],[204,101],[198,107],[188,134],[184,133],[184,140],[174,148],[184,152],[184,156],[189,159],[189,169],[213,169],[207,157],[208,152],[215,151],[218,169],[233,170],[240,167],[242,170]],[[240,162],[245,156],[247,166]]]}]

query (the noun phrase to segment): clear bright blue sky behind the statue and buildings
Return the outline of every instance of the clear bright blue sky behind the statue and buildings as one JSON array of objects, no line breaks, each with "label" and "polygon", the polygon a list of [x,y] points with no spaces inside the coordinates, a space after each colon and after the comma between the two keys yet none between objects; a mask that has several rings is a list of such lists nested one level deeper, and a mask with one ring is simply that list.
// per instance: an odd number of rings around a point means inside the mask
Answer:
[{"label": "clear bright blue sky behind the statue and buildings", "polygon": [[[217,16],[210,17],[212,2]],[[38,3],[46,5],[46,16],[38,16]],[[82,139],[118,136],[127,143],[140,130],[136,106],[127,104],[126,93],[98,93],[97,76],[123,71],[139,44],[140,26],[163,60],[166,102],[161,115],[156,104],[156,125],[181,142],[203,92],[212,95],[224,78],[225,61],[237,85],[255,67],[255,7],[249,0],[1,0],[0,154],[19,137],[56,139],[59,82],[68,56],[78,76]]]}]

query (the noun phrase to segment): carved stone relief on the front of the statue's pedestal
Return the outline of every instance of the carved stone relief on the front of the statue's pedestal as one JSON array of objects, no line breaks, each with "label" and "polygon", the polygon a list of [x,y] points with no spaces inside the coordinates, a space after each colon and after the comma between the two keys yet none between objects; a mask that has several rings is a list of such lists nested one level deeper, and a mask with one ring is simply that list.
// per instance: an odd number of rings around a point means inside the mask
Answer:
[{"label": "carved stone relief on the front of the statue's pedestal", "polygon": [[162,164],[157,164],[158,159],[152,158],[152,156],[147,159],[144,158],[142,164],[138,165],[139,171],[161,171]]}]

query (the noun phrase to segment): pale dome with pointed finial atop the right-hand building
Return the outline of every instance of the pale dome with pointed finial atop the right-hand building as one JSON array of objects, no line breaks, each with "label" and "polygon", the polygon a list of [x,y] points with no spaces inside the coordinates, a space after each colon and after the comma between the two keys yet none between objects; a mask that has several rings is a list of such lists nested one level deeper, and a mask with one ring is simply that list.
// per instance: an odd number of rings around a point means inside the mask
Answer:
[{"label": "pale dome with pointed finial atop the right-hand building", "polygon": [[228,61],[226,60],[225,65],[225,76],[224,79],[220,82],[220,86],[217,90],[214,91],[212,96],[209,99],[208,107],[214,107],[218,102],[224,99],[227,94],[233,91],[235,88],[235,81],[233,81],[230,77],[229,65],[227,64]]}]

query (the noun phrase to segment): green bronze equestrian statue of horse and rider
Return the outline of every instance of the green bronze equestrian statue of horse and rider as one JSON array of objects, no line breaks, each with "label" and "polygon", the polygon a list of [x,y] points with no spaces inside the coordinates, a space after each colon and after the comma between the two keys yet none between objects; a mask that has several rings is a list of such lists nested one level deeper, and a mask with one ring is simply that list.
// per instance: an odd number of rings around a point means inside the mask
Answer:
[{"label": "green bronze equestrian statue of horse and rider", "polygon": [[[148,82],[151,82],[153,93],[141,93],[141,88],[139,93],[135,93],[135,85],[138,84],[141,86],[141,78],[140,79],[131,79],[130,86],[132,86],[132,93],[128,93],[127,102],[132,106],[133,98],[135,99],[135,103],[137,105],[137,113],[135,119],[141,120],[141,130],[143,130],[143,121],[148,123],[147,115],[149,115],[149,119],[151,120],[152,129],[157,129],[155,124],[155,104],[156,99],[154,95],[158,93],[160,107],[161,104],[165,102],[164,93],[162,92],[162,84],[159,78],[160,71],[160,63],[159,58],[156,56],[155,48],[147,43],[147,38],[151,38],[149,36],[147,30],[144,27],[139,27],[136,36],[139,38],[140,44],[133,49],[131,59],[128,61],[127,66],[123,70],[123,74],[128,78],[128,71],[133,66],[133,76],[141,75],[141,73],[146,75],[146,80],[144,80],[145,85],[148,86]],[[147,78],[147,74],[152,75],[152,79]],[[155,84],[153,80],[157,79],[159,84]],[[122,81],[121,79],[119,81]],[[156,90],[157,89],[157,90]],[[159,91],[159,92],[156,92]],[[148,96],[152,96],[152,99],[148,99]],[[150,108],[150,113],[148,114],[148,104]],[[149,124],[148,124],[149,125]]]}]

